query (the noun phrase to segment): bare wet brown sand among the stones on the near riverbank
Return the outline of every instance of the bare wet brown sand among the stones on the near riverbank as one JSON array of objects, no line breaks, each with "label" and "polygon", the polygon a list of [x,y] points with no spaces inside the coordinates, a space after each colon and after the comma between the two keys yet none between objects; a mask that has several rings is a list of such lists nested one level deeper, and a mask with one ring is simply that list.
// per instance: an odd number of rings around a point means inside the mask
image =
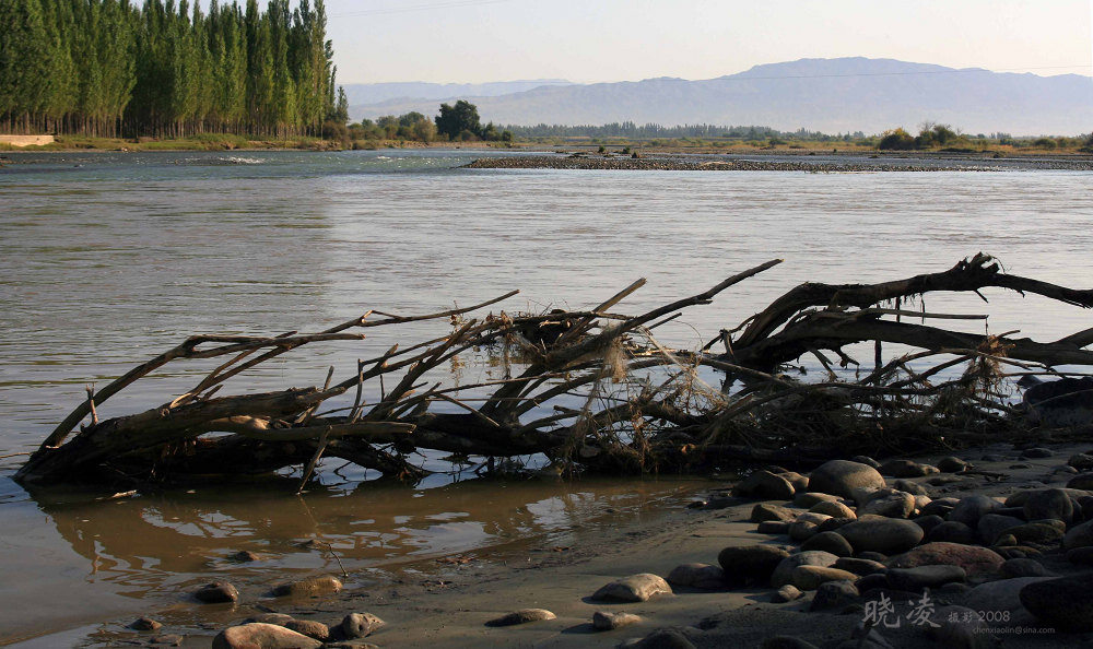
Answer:
[{"label": "bare wet brown sand among the stones on the near riverbank", "polygon": [[[1022,489],[1060,487],[1073,476],[1073,471],[1066,469],[1068,458],[1090,448],[1069,445],[1050,449],[1053,455],[1043,458],[1023,457],[1008,444],[975,449],[957,453],[974,463],[974,472],[959,474],[940,486],[929,482],[937,475],[915,482],[928,485],[933,498],[968,494],[1004,498]],[[916,458],[926,463],[937,459]],[[729,486],[715,482],[702,487],[715,494],[710,505],[720,508],[680,508],[612,530],[578,532],[572,544],[564,546],[509,548],[467,560],[455,556],[423,562],[404,566],[399,573],[351,575],[344,579],[344,590],[326,597],[263,598],[207,605],[209,622],[201,628],[172,628],[168,623],[158,632],[138,633],[124,627],[128,621],[117,621],[105,625],[92,646],[146,645],[153,639],[166,639],[177,646],[209,647],[219,630],[261,612],[287,613],[297,620],[328,625],[338,624],[349,613],[367,612],[386,625],[366,640],[359,640],[359,646],[366,641],[392,648],[616,647],[657,629],[678,629],[698,648],[759,647],[777,635],[797,636],[816,647],[835,647],[849,639],[862,621],[860,610],[810,613],[811,593],[796,602],[772,603],[774,591],[769,587],[698,590],[677,586],[674,594],[638,603],[590,599],[601,586],[631,575],[667,576],[686,563],[717,565],[718,553],[727,546],[797,545],[788,536],[756,531],[756,523],[750,520],[755,500],[716,497]],[[696,492],[696,497],[701,493]],[[716,503],[718,499],[720,503]],[[1045,555],[1042,563],[1063,575],[1077,570],[1061,557]],[[945,603],[945,595],[939,594],[938,605]],[[556,618],[500,628],[486,626],[486,622],[521,609],[546,609]],[[591,620],[597,611],[633,613],[642,621],[596,632]],[[162,618],[165,614],[169,617],[169,612],[149,612],[151,617]],[[1093,641],[1093,634],[1014,635],[1003,623],[991,626],[997,628],[989,632],[990,637],[1004,640],[1004,647],[1082,647]],[[935,642],[922,628],[910,624],[881,630],[895,648],[949,646]]]}]

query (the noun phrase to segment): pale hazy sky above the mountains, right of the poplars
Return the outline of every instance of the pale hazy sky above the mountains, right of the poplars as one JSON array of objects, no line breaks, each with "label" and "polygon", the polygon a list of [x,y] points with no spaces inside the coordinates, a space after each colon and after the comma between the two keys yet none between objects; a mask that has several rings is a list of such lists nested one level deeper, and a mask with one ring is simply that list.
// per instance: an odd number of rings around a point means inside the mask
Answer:
[{"label": "pale hazy sky above the mountains, right of the poplars", "polygon": [[338,81],[710,79],[866,56],[1093,72],[1093,0],[327,0]]}]

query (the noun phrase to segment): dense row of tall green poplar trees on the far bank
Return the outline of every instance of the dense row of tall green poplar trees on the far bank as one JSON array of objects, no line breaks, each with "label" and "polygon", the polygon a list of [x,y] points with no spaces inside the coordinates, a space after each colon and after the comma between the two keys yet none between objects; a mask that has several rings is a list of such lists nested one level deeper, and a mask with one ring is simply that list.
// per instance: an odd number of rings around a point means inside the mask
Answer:
[{"label": "dense row of tall green poplar trees on the far bank", "polygon": [[0,0],[0,129],[320,135],[348,119],[326,24],[322,0]]}]

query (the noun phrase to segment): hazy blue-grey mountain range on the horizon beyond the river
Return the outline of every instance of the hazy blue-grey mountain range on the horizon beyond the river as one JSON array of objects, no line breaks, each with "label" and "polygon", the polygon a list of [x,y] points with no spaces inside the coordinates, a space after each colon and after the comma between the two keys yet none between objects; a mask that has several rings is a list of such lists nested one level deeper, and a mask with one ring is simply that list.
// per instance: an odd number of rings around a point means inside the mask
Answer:
[{"label": "hazy blue-grey mountain range on the horizon beyond the river", "polygon": [[[435,115],[442,101],[467,99],[478,106],[483,121],[498,125],[628,120],[878,133],[895,127],[916,129],[929,120],[968,133],[1070,135],[1093,130],[1093,78],[990,72],[893,59],[801,59],[703,81],[660,78],[587,85],[551,81],[534,87],[519,87],[533,81],[508,83],[516,85],[507,90],[506,83],[466,86],[491,90],[477,94],[471,90],[444,94],[442,88],[465,87],[455,84],[404,84],[402,98],[372,103],[351,98],[350,115],[353,119],[410,110]],[[413,87],[419,85],[427,86],[419,92],[432,94],[415,96]]]}]

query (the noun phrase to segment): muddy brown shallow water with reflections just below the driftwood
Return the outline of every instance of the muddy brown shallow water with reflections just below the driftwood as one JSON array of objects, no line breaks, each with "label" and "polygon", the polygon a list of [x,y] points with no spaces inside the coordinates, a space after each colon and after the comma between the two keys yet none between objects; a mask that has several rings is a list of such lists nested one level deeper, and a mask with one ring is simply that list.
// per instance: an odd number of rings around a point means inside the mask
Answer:
[{"label": "muddy brown shallow water with reflections just below the driftwood", "polygon": [[[244,585],[268,583],[285,573],[338,571],[338,559],[353,571],[454,553],[489,556],[678,504],[697,485],[474,480],[408,491],[362,483],[318,486],[299,497],[296,486],[284,477],[90,503],[62,492],[35,498],[86,562],[87,580],[155,597],[207,580],[211,571]],[[236,562],[240,551],[259,560]]]}]

